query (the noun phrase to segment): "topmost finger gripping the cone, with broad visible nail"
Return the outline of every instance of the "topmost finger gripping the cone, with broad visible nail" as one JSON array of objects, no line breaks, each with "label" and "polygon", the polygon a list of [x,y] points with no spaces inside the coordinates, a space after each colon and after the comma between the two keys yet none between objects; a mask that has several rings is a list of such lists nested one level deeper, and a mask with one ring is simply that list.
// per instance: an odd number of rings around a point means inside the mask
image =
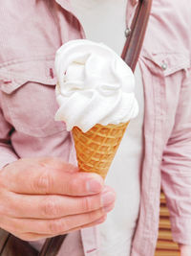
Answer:
[{"label": "topmost finger gripping the cone, with broad visible nail", "polygon": [[[58,163],[54,164],[56,161]],[[52,163],[49,159],[32,163],[25,159],[15,162],[13,168],[10,165],[10,170],[4,172],[6,186],[14,193],[36,195],[87,196],[102,190],[100,175],[77,172],[73,165],[59,159],[56,161],[54,159]]]}]

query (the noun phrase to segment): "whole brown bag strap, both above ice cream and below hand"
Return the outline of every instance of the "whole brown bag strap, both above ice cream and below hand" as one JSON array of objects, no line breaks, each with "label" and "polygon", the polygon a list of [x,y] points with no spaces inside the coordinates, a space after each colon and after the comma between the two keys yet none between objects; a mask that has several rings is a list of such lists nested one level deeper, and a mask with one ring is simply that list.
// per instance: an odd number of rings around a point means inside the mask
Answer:
[{"label": "whole brown bag strap, both above ice cream and below hand", "polygon": [[[127,29],[127,40],[123,48],[121,58],[135,71],[138,56],[144,40],[146,27],[151,11],[152,0],[139,0],[136,13],[134,15],[131,29]],[[55,256],[66,235],[47,239],[39,256]]]}]

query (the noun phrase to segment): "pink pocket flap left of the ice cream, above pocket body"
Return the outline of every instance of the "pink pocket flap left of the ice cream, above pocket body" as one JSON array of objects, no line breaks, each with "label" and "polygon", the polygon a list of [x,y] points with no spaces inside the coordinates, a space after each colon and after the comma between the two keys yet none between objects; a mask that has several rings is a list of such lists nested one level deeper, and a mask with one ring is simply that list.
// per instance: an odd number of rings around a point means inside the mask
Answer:
[{"label": "pink pocket flap left of the ice cream, above pocket body", "polygon": [[0,68],[0,89],[7,94],[11,94],[27,81],[55,85],[54,60],[22,61]]}]

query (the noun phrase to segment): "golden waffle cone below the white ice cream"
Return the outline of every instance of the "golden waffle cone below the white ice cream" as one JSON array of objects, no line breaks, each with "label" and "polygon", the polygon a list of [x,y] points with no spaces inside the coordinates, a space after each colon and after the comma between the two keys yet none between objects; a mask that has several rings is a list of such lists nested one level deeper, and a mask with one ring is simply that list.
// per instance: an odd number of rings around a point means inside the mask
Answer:
[{"label": "golden waffle cone below the white ice cream", "polygon": [[74,146],[79,170],[105,178],[128,124],[129,122],[108,126],[97,124],[87,132],[74,127]]}]

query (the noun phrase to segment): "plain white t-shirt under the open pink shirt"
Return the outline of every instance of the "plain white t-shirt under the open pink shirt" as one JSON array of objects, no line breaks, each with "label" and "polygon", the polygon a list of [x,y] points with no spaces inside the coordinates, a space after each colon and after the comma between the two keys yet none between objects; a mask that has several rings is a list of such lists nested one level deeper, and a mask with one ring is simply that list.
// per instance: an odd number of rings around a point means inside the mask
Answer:
[{"label": "plain white t-shirt under the open pink shirt", "polygon": [[[71,0],[74,14],[81,22],[87,39],[103,42],[118,55],[125,43],[127,0]],[[115,209],[98,225],[100,256],[129,256],[139,208],[140,169],[142,160],[142,127],[144,98],[139,66],[136,72],[138,117],[132,120],[118,148],[106,177],[106,183],[117,191]]]}]

